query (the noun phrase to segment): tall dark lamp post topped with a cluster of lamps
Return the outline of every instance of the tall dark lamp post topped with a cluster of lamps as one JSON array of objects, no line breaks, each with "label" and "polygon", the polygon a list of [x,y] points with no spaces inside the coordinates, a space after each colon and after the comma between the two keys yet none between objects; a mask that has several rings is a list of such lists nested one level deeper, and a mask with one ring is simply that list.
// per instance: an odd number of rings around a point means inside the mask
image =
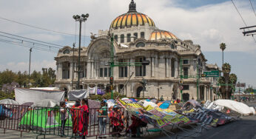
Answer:
[{"label": "tall dark lamp post topped with a cluster of lamps", "polygon": [[81,16],[73,16],[73,18],[75,19],[75,21],[79,21],[79,25],[80,25],[80,28],[79,28],[79,50],[78,50],[78,83],[77,83],[77,86],[76,86],[76,89],[79,89],[80,88],[80,55],[81,55],[81,24],[82,22],[84,21],[87,21],[87,18],[89,17],[89,14],[87,13],[86,15],[82,14]]}]

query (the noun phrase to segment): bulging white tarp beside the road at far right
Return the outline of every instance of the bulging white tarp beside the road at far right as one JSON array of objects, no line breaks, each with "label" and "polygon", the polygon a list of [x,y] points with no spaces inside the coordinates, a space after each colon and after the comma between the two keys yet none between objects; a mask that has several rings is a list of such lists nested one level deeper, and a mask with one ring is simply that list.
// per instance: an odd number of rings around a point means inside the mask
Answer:
[{"label": "bulging white tarp beside the road at far right", "polygon": [[212,104],[210,104],[208,107],[211,108],[212,106],[217,106],[215,109],[220,109],[221,107],[227,107],[229,109],[234,110],[235,112],[238,112],[242,115],[249,115],[249,114],[255,114],[255,110],[252,110],[249,106],[246,104],[243,104],[238,101],[232,101],[232,100],[217,100],[213,101]]}]

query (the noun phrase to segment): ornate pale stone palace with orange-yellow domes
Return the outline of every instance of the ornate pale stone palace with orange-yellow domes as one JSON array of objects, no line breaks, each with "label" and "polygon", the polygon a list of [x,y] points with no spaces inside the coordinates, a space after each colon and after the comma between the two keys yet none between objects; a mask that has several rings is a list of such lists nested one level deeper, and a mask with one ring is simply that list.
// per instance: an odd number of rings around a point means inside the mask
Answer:
[{"label": "ornate pale stone palace with orange-yellow domes", "polygon": [[[181,95],[184,100],[213,101],[216,97],[217,78],[201,77],[201,74],[220,70],[219,67],[206,64],[200,45],[159,29],[152,18],[138,13],[133,0],[128,12],[115,18],[109,30],[99,30],[97,37],[91,36],[87,47],[81,47],[80,89],[97,87],[110,92],[110,34],[114,38],[115,63],[149,61],[149,65],[144,66],[114,67],[115,92],[124,88],[122,93],[127,97],[160,98],[163,95],[165,100],[181,99]],[[55,61],[55,86],[75,89],[78,49],[63,47]],[[124,86],[132,72],[129,83]],[[146,89],[141,84],[143,78]]]}]

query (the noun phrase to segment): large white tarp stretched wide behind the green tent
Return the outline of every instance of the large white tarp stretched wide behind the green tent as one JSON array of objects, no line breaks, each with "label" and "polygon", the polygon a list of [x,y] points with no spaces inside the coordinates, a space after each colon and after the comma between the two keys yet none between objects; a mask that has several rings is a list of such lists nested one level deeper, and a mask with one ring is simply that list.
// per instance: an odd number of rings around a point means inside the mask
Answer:
[{"label": "large white tarp stretched wide behind the green tent", "polygon": [[15,88],[15,98],[18,104],[26,102],[36,102],[44,99],[53,99],[57,102],[64,101],[64,91],[50,91],[41,89],[22,89]]}]

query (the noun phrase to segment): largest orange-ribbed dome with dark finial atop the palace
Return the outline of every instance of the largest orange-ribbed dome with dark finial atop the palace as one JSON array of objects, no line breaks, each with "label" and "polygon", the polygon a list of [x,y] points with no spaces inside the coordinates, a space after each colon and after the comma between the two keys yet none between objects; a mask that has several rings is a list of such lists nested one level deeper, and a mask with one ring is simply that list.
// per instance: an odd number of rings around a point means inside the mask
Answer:
[{"label": "largest orange-ribbed dome with dark finial atop the palace", "polygon": [[115,18],[112,21],[110,28],[132,27],[138,25],[145,25],[146,23],[148,23],[149,26],[155,27],[154,21],[149,18],[149,16],[146,16],[143,13],[138,13],[136,11],[136,4],[132,0],[129,4],[129,11]]}]

